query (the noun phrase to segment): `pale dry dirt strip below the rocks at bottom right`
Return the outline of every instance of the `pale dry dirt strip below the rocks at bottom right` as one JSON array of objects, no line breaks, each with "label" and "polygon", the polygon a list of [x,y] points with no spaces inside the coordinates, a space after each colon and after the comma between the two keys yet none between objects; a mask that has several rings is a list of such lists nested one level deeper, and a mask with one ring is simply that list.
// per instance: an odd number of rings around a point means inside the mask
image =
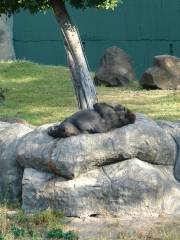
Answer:
[{"label": "pale dry dirt strip below the rocks at bottom right", "polygon": [[180,217],[173,216],[70,218],[68,228],[76,231],[80,240],[180,239]]}]

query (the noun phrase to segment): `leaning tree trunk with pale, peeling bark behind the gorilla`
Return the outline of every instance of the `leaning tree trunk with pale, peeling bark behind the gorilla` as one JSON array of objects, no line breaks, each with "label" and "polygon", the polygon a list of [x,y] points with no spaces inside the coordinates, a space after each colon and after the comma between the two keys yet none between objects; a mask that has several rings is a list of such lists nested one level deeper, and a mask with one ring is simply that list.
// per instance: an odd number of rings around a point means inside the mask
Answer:
[{"label": "leaning tree trunk with pale, peeling bark behind the gorilla", "polygon": [[97,102],[96,90],[88,69],[76,27],[71,23],[64,1],[51,0],[65,42],[68,64],[80,109],[92,109]]}]

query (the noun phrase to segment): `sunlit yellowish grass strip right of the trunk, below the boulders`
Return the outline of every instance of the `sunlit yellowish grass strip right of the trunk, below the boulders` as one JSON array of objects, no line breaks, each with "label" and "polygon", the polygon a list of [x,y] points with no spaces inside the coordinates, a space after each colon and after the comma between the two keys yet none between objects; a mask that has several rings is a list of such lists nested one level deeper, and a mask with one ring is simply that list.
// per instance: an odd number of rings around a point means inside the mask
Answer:
[{"label": "sunlit yellowish grass strip right of the trunk, below the boulders", "polygon": [[147,114],[153,119],[176,121],[180,119],[180,91],[142,89],[99,89],[103,101],[122,103],[133,111]]}]

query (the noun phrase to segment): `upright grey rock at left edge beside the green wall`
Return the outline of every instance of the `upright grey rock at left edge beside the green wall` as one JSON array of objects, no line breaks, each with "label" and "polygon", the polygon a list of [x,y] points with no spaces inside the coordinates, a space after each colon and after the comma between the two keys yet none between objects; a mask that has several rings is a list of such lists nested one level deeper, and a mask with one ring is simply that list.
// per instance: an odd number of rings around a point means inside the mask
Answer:
[{"label": "upright grey rock at left edge beside the green wall", "polygon": [[13,17],[0,16],[0,60],[15,59],[13,45]]}]

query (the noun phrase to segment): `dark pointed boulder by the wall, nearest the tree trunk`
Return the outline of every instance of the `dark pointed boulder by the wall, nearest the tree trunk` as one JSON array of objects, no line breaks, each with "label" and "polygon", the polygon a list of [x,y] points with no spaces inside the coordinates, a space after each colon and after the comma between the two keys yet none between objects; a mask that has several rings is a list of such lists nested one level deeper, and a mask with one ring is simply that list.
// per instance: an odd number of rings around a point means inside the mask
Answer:
[{"label": "dark pointed boulder by the wall, nearest the tree trunk", "polygon": [[118,47],[106,49],[95,75],[96,85],[127,86],[135,74],[129,56]]}]

